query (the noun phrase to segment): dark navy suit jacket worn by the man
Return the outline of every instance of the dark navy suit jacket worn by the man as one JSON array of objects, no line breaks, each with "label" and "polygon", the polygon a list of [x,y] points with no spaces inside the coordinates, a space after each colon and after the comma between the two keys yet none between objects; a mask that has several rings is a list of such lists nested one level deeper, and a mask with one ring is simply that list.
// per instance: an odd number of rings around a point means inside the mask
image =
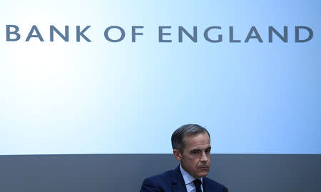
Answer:
[{"label": "dark navy suit jacket worn by the man", "polygon": [[[228,192],[228,188],[213,181],[210,178],[203,177],[204,192]],[[166,171],[157,176],[146,178],[141,185],[141,192],[185,192],[186,186],[180,173],[180,166],[174,170]]]}]

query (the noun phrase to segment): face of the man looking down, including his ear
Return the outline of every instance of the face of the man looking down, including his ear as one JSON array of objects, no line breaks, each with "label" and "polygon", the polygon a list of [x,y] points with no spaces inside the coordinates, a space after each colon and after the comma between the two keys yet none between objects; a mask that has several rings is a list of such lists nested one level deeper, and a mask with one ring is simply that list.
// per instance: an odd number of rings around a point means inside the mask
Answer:
[{"label": "face of the man looking down, including his ear", "polygon": [[182,168],[194,178],[207,176],[210,171],[210,138],[208,133],[185,136],[183,153],[174,150],[174,155],[180,161]]}]

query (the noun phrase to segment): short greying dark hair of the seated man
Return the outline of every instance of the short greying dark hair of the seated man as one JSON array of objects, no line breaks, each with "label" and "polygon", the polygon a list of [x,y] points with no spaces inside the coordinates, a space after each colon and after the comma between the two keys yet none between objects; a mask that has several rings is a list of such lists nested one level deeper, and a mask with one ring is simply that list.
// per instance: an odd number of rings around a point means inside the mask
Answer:
[{"label": "short greying dark hair of the seated man", "polygon": [[[199,126],[196,124],[186,124],[180,126],[180,128],[176,129],[172,134],[172,147],[183,153],[185,147],[185,136],[195,136],[200,133],[208,133],[206,128],[203,126]],[[210,133],[208,133],[208,138],[210,138]]]}]

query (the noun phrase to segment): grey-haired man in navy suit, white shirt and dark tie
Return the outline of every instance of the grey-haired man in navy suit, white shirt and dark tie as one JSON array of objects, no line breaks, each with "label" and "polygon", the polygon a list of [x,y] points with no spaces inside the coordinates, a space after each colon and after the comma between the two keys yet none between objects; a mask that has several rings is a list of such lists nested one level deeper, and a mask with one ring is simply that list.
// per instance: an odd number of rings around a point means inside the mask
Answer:
[{"label": "grey-haired man in navy suit, white shirt and dark tie", "polygon": [[228,192],[228,188],[206,178],[210,171],[210,133],[202,126],[183,125],[172,135],[172,147],[180,165],[174,170],[146,178],[141,192]]}]

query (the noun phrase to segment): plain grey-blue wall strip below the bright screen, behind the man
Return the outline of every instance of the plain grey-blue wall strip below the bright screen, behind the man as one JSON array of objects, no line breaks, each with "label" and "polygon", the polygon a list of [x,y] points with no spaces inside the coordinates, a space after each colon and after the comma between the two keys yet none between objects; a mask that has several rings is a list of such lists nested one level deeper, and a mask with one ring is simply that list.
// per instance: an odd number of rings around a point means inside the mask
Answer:
[{"label": "plain grey-blue wall strip below the bright screen, behind the man", "polygon": [[[229,191],[321,191],[321,155],[213,154],[208,177]],[[173,169],[171,154],[0,156],[0,191],[139,191]]]}]

